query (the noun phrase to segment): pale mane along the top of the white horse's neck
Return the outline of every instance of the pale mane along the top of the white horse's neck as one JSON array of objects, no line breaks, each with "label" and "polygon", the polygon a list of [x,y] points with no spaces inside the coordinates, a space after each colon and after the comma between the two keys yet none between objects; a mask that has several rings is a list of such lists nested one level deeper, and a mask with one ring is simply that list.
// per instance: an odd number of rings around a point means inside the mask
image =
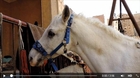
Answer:
[{"label": "pale mane along the top of the white horse's neck", "polygon": [[118,30],[114,29],[112,26],[105,25],[102,23],[99,19],[94,17],[85,17],[83,14],[75,14],[75,18],[82,19],[84,22],[90,23],[106,32],[106,34],[111,35],[113,38],[116,38],[118,40],[126,41],[126,39],[129,41],[138,41],[138,39],[135,39],[133,37],[129,37],[127,35],[123,35]]}]

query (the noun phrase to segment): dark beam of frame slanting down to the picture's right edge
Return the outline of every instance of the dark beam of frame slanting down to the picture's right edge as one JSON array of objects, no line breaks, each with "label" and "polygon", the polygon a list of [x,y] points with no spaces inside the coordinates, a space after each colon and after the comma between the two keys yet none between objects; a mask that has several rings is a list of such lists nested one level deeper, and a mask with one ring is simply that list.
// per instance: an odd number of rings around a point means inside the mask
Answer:
[{"label": "dark beam of frame slanting down to the picture's right edge", "polygon": [[127,5],[127,3],[125,2],[125,0],[121,0],[121,2],[123,3],[123,5],[124,5],[124,7],[125,7],[125,9],[126,9],[126,11],[127,11],[127,13],[128,13],[128,15],[129,15],[129,17],[130,17],[132,23],[133,23],[133,25],[134,25],[134,27],[135,27],[135,29],[136,29],[138,35],[140,36],[140,28],[139,28],[139,26],[137,25],[137,23],[136,23],[136,21],[135,21],[133,15],[132,15],[132,13],[131,13],[131,11],[130,11],[128,5]]}]

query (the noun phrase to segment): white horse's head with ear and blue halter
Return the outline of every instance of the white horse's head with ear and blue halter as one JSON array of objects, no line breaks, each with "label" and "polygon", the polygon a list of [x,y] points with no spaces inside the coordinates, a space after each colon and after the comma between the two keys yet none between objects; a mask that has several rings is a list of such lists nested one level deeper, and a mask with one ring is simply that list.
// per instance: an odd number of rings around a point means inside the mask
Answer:
[{"label": "white horse's head with ear and blue halter", "polygon": [[43,60],[63,54],[63,50],[69,50],[71,41],[68,24],[71,25],[72,20],[71,10],[65,5],[62,15],[54,17],[42,37],[33,45],[29,53],[31,66],[41,66]]}]

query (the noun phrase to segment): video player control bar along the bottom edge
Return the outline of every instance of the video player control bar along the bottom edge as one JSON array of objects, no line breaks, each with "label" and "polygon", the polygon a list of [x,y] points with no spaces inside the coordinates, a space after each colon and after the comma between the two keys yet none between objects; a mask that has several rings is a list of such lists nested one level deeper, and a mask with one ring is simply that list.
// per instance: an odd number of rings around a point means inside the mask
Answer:
[{"label": "video player control bar along the bottom edge", "polygon": [[140,78],[140,73],[104,73],[104,74],[51,74],[51,75],[14,75],[2,74],[3,78],[20,77],[94,77],[94,78]]}]

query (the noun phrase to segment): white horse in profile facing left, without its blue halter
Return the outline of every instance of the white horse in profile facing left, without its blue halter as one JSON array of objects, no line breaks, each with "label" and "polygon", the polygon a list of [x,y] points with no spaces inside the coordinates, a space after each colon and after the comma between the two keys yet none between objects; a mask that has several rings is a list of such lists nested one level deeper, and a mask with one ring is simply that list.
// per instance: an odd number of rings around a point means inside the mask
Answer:
[{"label": "white horse in profile facing left, without its blue halter", "polygon": [[[73,15],[73,18],[72,18]],[[69,20],[71,26],[67,26]],[[70,41],[65,49],[76,52],[95,73],[140,73],[140,40],[121,34],[95,18],[75,14],[67,5],[45,30],[38,43],[44,48],[39,52],[32,48],[29,53],[31,66],[40,66],[44,59],[63,54],[63,47],[49,55],[64,42],[66,29],[70,28]],[[65,43],[65,42],[64,42]],[[39,46],[40,46],[39,45]]]}]

